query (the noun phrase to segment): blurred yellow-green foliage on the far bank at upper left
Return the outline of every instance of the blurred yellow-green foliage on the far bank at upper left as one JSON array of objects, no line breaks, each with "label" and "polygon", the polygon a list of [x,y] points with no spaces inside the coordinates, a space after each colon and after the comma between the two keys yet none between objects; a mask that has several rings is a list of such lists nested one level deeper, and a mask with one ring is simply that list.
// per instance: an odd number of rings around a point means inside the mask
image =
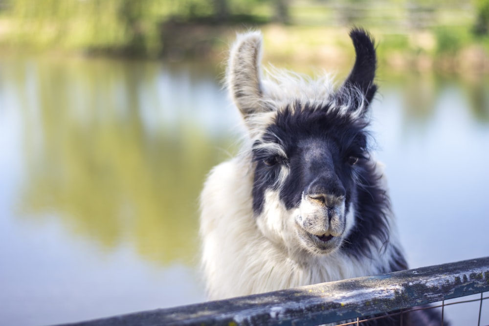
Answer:
[{"label": "blurred yellow-green foliage on the far bank at upper left", "polygon": [[151,54],[159,46],[156,0],[11,0],[11,43]]}]

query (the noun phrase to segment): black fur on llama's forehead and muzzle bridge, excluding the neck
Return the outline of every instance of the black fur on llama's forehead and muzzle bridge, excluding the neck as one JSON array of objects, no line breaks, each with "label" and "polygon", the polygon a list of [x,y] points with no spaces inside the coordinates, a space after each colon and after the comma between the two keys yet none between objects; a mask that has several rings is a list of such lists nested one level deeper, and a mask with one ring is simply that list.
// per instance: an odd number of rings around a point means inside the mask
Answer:
[{"label": "black fur on llama's forehead and muzzle bridge, excluding the neck", "polygon": [[[297,105],[297,104],[296,104]],[[264,142],[276,142],[287,153],[287,157],[275,157],[275,153],[254,152],[257,162],[253,189],[254,210],[260,213],[263,193],[275,187],[281,165],[287,165],[290,173],[281,188],[280,197],[288,209],[297,207],[303,191],[318,174],[325,175],[329,192],[346,192],[352,195],[353,168],[347,162],[350,156],[364,158],[364,124],[349,121],[329,108],[311,110],[286,108],[277,114],[274,124],[267,129]],[[268,155],[268,156],[267,156]],[[263,159],[275,157],[277,164],[267,166]],[[337,170],[340,180],[330,171]],[[341,182],[338,182],[341,181]],[[344,189],[343,189],[344,188]],[[275,188],[276,189],[276,188]]]}]

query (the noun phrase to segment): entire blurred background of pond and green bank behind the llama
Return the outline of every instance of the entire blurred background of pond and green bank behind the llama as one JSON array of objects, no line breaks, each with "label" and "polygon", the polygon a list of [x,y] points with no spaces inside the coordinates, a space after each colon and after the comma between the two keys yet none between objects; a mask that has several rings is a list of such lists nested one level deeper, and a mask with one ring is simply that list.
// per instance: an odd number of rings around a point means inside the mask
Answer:
[{"label": "entire blurred background of pond and green bank behind the llama", "polygon": [[229,44],[259,28],[265,63],[339,84],[354,25],[410,266],[487,256],[489,0],[0,0],[0,325],[204,301],[198,197],[242,130]]}]

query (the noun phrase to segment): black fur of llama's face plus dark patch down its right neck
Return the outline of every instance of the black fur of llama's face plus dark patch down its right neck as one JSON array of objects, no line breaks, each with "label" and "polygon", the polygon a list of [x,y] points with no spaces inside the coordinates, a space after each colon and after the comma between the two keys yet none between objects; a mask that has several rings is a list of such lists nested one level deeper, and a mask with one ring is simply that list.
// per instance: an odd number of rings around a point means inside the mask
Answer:
[{"label": "black fur of llama's face plus dark patch down its right neck", "polygon": [[[256,162],[255,214],[263,210],[265,191],[278,189],[277,178],[282,165],[287,165],[290,171],[280,189],[280,198],[287,209],[297,207],[302,193],[307,192],[314,178],[324,174],[322,186],[328,188],[327,192],[343,191],[347,208],[352,199],[356,203],[356,226],[342,249],[355,256],[369,255],[368,242],[388,240],[385,214],[390,208],[389,198],[379,185],[380,176],[368,160],[368,133],[365,130],[368,123],[328,106],[315,110],[307,105],[304,109],[297,107],[298,104],[295,106],[279,112],[263,137],[263,142],[279,144],[287,156],[280,157],[262,148],[253,151]],[[358,157],[353,166],[348,162],[352,156]],[[267,160],[275,164],[267,164]],[[390,271],[401,270],[406,268],[406,263],[397,259],[390,267]]]}]

